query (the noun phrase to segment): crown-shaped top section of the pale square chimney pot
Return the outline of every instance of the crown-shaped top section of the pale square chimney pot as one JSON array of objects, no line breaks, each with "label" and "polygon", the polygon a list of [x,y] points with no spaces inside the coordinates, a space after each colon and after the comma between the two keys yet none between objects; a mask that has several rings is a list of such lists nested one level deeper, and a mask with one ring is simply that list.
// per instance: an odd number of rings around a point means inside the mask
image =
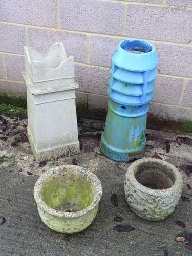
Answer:
[{"label": "crown-shaped top section of the pale square chimney pot", "polygon": [[56,42],[47,53],[25,46],[25,66],[33,83],[74,78],[74,58],[67,58],[62,42]]}]

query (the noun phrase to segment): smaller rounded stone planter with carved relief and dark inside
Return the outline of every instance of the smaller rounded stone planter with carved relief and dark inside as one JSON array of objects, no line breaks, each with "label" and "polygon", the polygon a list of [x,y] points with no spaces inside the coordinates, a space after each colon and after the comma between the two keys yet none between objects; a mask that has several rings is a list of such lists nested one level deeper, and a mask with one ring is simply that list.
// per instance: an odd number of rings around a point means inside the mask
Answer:
[{"label": "smaller rounded stone planter with carved relief and dark inside", "polygon": [[140,159],[127,169],[126,202],[139,217],[160,221],[174,211],[182,192],[182,176],[172,164],[154,158]]}]

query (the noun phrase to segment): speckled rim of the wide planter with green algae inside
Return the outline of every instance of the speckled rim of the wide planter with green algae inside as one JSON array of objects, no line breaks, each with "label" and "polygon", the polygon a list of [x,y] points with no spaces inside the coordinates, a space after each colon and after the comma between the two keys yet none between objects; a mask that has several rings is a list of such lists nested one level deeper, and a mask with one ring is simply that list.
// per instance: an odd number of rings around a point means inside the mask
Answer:
[{"label": "speckled rim of the wide planter with green algae inside", "polygon": [[[92,200],[92,203],[79,211],[76,212],[62,212],[59,210],[55,210],[51,208],[49,205],[45,203],[45,201],[42,199],[42,185],[44,182],[50,178],[51,175],[58,176],[59,174],[63,173],[78,173],[79,175],[85,175],[86,180],[91,180],[90,184],[94,184],[94,197]],[[88,179],[89,178],[89,179]],[[46,211],[48,214],[60,217],[60,218],[77,218],[80,216],[83,216],[87,214],[89,211],[93,210],[97,204],[99,203],[102,196],[102,186],[100,180],[97,178],[97,176],[90,172],[88,169],[76,166],[76,165],[62,165],[57,166],[49,169],[47,172],[42,174],[38,180],[35,183],[34,186],[34,199],[38,207],[40,207],[42,210]]]}]

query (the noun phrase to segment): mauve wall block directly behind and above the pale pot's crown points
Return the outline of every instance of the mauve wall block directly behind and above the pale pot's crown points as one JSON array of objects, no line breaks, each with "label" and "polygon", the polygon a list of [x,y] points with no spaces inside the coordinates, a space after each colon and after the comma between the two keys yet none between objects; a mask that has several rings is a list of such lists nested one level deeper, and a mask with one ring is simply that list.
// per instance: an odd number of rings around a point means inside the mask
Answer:
[{"label": "mauve wall block directly behind and above the pale pot's crown points", "polygon": [[75,61],[86,62],[87,38],[84,34],[29,28],[29,45],[38,51],[47,51],[50,45],[61,41],[67,55],[73,55]]}]

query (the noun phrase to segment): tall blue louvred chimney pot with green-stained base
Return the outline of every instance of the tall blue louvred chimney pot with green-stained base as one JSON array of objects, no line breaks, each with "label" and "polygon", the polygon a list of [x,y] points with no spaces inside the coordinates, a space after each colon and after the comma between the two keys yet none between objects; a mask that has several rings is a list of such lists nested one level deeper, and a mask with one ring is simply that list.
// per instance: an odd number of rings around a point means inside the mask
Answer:
[{"label": "tall blue louvred chimney pot with green-stained base", "polygon": [[100,142],[106,157],[129,162],[144,156],[146,119],[157,65],[155,46],[144,40],[123,40],[113,53],[108,114]]}]

